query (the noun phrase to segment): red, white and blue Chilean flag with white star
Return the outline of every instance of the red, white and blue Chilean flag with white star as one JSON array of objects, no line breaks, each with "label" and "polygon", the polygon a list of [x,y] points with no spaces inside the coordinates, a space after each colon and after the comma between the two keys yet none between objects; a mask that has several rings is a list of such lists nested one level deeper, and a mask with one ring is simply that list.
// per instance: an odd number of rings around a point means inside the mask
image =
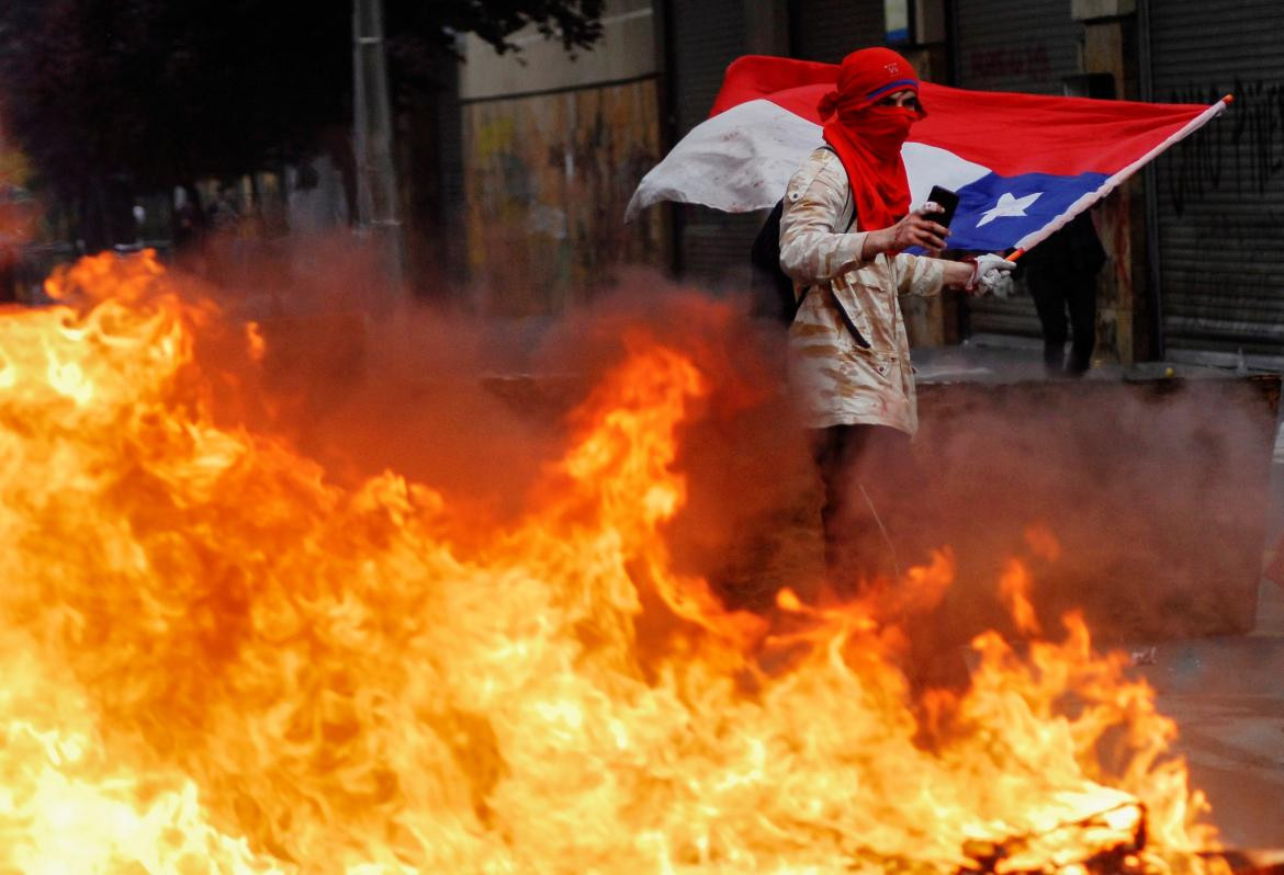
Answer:
[{"label": "red, white and blue Chilean flag with white star", "polygon": [[[734,60],[709,118],[642,178],[625,219],[661,200],[731,213],[773,207],[823,142],[815,106],[837,77],[837,64]],[[931,82],[919,98],[927,117],[901,149],[910,204],[922,207],[933,185],[958,191],[948,245],[977,251],[1030,249],[1229,101],[1145,104]]]}]

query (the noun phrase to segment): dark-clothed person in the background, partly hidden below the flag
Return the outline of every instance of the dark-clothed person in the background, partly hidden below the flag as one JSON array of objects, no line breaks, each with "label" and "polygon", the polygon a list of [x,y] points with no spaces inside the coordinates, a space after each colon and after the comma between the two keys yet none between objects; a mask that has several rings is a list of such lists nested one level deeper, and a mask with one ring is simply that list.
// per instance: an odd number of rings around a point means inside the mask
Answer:
[{"label": "dark-clothed person in the background, partly hidden below the flag", "polygon": [[[1081,377],[1097,345],[1097,275],[1106,249],[1084,212],[1022,255],[1017,264],[1030,287],[1044,336],[1050,376]],[[1067,318],[1068,313],[1068,318]],[[1070,340],[1070,355],[1066,341]]]}]

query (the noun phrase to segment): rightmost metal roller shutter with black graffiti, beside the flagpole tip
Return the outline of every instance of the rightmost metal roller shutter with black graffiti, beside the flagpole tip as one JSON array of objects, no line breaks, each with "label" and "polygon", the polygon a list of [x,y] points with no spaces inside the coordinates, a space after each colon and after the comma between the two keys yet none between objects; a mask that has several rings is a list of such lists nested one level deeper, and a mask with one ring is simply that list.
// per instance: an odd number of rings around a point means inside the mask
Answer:
[{"label": "rightmost metal roller shutter with black graffiti, beside the flagpole tip", "polygon": [[1152,0],[1154,99],[1230,112],[1156,162],[1170,358],[1284,355],[1284,4]]}]

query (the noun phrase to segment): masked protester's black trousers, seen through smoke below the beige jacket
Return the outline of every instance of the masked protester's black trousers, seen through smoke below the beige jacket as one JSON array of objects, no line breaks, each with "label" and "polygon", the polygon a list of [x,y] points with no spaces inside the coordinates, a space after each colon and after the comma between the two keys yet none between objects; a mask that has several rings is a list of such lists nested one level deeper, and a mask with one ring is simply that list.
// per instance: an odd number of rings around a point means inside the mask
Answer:
[{"label": "masked protester's black trousers, seen through smoke below the beige jacket", "polygon": [[824,503],[820,523],[829,585],[855,595],[922,561],[914,536],[923,477],[909,435],[877,425],[831,426],[813,435]]}]

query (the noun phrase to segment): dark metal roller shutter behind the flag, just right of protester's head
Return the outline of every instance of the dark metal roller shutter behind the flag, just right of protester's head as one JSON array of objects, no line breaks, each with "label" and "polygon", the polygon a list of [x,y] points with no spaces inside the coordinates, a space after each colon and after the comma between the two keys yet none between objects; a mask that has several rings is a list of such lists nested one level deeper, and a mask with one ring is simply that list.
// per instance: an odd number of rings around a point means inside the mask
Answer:
[{"label": "dark metal roller shutter behind the flag, just right of protester's head", "polygon": [[[1084,26],[1070,0],[966,0],[955,4],[959,86],[981,91],[1062,94],[1080,72]],[[973,334],[1041,336],[1028,294],[969,298]]]}]

